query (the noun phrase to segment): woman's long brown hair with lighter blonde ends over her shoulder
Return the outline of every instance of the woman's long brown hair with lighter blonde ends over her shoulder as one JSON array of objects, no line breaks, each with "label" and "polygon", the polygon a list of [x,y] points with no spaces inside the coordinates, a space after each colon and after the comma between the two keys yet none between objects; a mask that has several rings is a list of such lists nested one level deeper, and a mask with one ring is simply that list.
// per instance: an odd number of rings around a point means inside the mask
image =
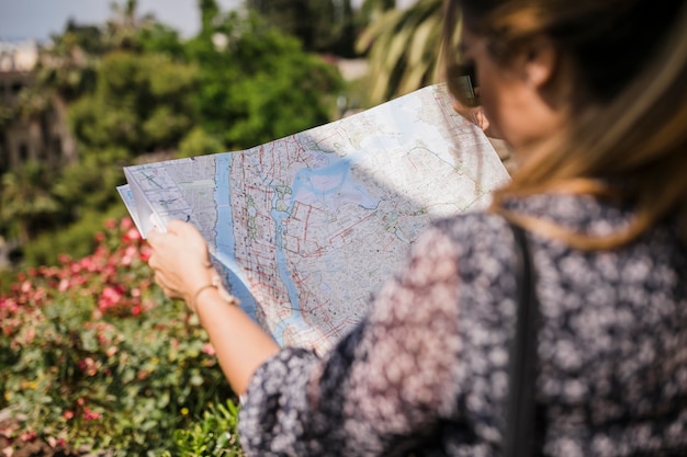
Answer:
[{"label": "woman's long brown hair with lighter blonde ends over her shoulder", "polygon": [[[687,7],[675,0],[448,0],[447,65],[459,16],[500,65],[532,38],[560,56],[570,123],[555,145],[529,151],[493,209],[581,249],[612,249],[677,215],[687,239]],[[451,84],[449,84],[451,87]],[[509,196],[574,192],[637,208],[621,231],[596,237],[507,210]]]}]

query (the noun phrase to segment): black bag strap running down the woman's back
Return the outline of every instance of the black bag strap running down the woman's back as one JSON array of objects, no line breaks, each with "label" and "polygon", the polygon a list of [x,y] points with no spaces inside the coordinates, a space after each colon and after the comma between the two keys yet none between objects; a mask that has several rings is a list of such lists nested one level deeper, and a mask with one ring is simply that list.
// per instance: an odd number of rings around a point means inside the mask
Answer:
[{"label": "black bag strap running down the woman's back", "polygon": [[505,457],[533,455],[534,390],[537,380],[537,330],[539,302],[534,290],[534,272],[525,230],[509,224],[517,255],[517,323],[508,366]]}]

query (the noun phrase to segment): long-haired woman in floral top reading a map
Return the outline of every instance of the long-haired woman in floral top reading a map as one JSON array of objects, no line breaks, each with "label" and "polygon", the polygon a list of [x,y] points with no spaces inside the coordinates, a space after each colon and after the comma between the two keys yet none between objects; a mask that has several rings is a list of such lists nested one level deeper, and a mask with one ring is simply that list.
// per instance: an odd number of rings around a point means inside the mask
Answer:
[{"label": "long-haired woman in floral top reading a map", "polygon": [[191,226],[150,235],[156,279],[199,313],[243,396],[249,455],[498,454],[515,327],[506,219],[528,230],[538,277],[540,450],[687,455],[683,3],[448,1],[450,82],[476,73],[454,94],[474,105],[474,90],[520,167],[492,212],[428,229],[322,359],[279,350],[227,306]]}]

